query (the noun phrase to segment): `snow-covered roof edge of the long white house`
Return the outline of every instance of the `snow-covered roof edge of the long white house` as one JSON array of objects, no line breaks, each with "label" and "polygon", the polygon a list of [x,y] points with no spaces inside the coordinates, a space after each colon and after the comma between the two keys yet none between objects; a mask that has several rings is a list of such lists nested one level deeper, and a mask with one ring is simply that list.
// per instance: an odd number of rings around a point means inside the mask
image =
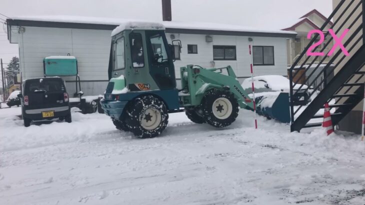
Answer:
[{"label": "snow-covered roof edge of the long white house", "polygon": [[[34,27],[59,27],[79,29],[113,30],[116,26],[127,22],[145,22],[135,19],[86,17],[86,16],[18,16],[6,19],[10,26],[34,26]],[[208,23],[208,22],[184,22],[184,21],[160,21],[154,22],[165,27],[167,33],[190,33],[212,35],[243,35],[243,36],[268,36],[268,37],[294,37],[296,32],[284,30],[255,29],[240,25]]]}]

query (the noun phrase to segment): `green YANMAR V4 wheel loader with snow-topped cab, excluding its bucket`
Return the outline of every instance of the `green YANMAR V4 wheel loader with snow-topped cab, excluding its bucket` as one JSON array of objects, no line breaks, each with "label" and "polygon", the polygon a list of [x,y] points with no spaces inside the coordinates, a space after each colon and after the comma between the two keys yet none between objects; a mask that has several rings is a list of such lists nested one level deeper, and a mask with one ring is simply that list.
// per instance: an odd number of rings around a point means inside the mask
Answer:
[{"label": "green YANMAR V4 wheel loader with snow-topped cab, excluding its bucket", "polygon": [[[239,108],[254,108],[229,65],[180,67],[181,89],[177,89],[174,43],[180,47],[178,40],[167,43],[159,23],[127,22],[112,31],[109,82],[100,103],[117,129],[155,137],[166,128],[168,113],[180,111],[195,123],[225,127],[236,119]],[[288,112],[288,98],[282,97]],[[271,115],[270,109],[261,112]]]}]

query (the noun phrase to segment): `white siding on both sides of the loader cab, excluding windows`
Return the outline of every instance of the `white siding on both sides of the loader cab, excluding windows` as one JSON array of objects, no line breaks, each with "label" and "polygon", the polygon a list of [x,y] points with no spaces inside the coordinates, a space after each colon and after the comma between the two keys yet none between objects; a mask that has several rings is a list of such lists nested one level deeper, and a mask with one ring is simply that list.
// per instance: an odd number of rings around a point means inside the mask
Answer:
[{"label": "white siding on both sides of the loader cab, excluding windows", "polygon": [[[110,30],[25,26],[25,32],[19,36],[22,79],[42,77],[44,57],[69,53],[77,58],[82,91],[86,95],[103,93],[108,79],[110,33]],[[174,62],[176,78],[180,78],[179,69],[186,64],[208,68],[231,65],[240,81],[250,76],[248,36],[212,35],[213,41],[205,42],[205,34],[166,33],[169,43],[171,34],[182,42],[181,60]],[[286,38],[250,37],[252,45],[274,46],[274,65],[254,66],[255,75],[286,75]],[[198,53],[188,54],[187,44],[197,44]],[[214,60],[215,65],[212,64],[213,45],[235,45],[236,60]],[[62,78],[66,80],[67,91],[74,92],[75,76]]]}]

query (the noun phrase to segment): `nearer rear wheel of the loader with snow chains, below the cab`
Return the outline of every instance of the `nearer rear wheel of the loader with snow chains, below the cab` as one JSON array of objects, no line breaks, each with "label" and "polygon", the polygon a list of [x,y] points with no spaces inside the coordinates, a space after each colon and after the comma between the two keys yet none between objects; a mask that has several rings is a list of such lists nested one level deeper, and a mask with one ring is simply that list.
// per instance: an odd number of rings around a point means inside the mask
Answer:
[{"label": "nearer rear wheel of the loader with snow chains, below the cab", "polygon": [[[154,96],[137,97],[126,108],[126,125],[137,137],[155,137],[162,133],[167,126],[168,113],[166,105]],[[143,118],[143,114],[145,118]],[[152,124],[149,125],[148,123]]]}]

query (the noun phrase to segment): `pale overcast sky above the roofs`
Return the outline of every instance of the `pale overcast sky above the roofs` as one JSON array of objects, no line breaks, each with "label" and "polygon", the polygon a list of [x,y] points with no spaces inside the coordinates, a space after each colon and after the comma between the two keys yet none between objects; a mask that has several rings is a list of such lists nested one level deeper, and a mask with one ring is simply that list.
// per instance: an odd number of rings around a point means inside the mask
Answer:
[{"label": "pale overcast sky above the roofs", "polygon": [[[172,20],[238,24],[281,29],[316,8],[328,16],[332,0],[171,0]],[[162,19],[161,0],[1,0],[0,13],[24,15],[83,15],[96,17]],[[0,16],[3,18],[3,16]],[[0,20],[1,21],[1,20]],[[2,24],[1,27],[2,28]],[[17,44],[8,43],[0,29],[0,58],[17,56]]]}]

